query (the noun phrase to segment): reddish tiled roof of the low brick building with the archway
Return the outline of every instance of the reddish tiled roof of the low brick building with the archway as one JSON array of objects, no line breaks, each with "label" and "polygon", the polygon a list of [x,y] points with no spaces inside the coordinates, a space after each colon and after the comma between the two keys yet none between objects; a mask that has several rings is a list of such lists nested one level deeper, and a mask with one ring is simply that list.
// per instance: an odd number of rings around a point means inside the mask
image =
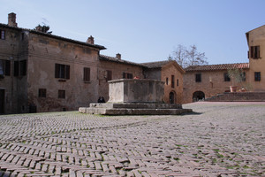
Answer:
[{"label": "reddish tiled roof of the low brick building with the archway", "polygon": [[249,69],[249,63],[238,64],[220,64],[220,65],[190,65],[185,68],[186,72],[195,71],[216,71],[216,70],[228,70],[228,69]]}]

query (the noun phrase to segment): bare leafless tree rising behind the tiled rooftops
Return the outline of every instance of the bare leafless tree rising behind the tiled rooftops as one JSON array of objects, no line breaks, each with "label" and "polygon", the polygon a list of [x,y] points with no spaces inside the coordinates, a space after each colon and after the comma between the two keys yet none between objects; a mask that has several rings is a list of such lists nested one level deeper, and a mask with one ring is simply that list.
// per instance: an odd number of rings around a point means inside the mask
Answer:
[{"label": "bare leafless tree rising behind the tiled rooftops", "polygon": [[183,68],[190,65],[208,65],[205,53],[197,51],[197,47],[194,44],[188,49],[185,46],[178,44],[178,47],[172,52],[169,59],[176,60],[178,65],[181,65]]}]

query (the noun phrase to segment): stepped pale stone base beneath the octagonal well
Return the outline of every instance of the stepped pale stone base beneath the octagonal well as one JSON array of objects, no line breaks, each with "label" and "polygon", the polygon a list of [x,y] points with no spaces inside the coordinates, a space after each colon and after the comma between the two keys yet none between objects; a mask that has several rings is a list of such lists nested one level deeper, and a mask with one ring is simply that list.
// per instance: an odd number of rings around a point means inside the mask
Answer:
[{"label": "stepped pale stone base beneath the octagonal well", "polygon": [[79,112],[102,115],[178,115],[193,112],[182,109],[181,104],[90,104],[80,107]]}]

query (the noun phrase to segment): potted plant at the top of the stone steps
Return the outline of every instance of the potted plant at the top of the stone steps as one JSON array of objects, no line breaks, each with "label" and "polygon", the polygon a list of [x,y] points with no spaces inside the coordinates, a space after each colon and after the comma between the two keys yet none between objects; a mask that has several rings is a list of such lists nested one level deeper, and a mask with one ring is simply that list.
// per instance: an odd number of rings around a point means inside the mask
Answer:
[{"label": "potted plant at the top of the stone steps", "polygon": [[236,83],[240,83],[244,80],[244,75],[242,70],[236,68],[236,69],[229,69],[228,70],[228,76],[231,78],[232,81],[232,85],[230,86],[230,91],[231,92],[237,92],[237,85],[235,85]]}]

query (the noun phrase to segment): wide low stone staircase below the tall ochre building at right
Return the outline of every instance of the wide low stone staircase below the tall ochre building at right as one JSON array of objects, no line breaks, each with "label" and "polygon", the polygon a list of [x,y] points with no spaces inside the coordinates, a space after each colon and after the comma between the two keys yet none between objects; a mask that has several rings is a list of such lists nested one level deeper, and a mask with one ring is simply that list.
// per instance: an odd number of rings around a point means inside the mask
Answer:
[{"label": "wide low stone staircase below the tall ochre building at right", "polygon": [[265,102],[265,92],[225,92],[206,98],[207,102]]}]

